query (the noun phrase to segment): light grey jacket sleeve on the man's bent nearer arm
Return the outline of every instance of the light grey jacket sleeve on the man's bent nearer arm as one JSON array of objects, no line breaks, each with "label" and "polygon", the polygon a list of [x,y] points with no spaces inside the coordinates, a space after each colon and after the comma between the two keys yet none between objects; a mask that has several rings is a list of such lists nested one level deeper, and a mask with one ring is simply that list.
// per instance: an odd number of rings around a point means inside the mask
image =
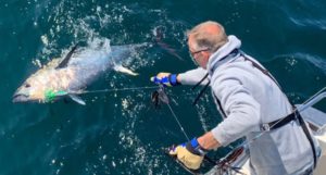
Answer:
[{"label": "light grey jacket sleeve on the man's bent nearer arm", "polygon": [[227,115],[212,129],[214,138],[222,146],[227,146],[252,132],[261,121],[260,104],[252,97],[252,92],[243,86],[240,77],[235,77],[234,73],[234,71],[226,72],[216,76],[212,85],[213,92]]}]

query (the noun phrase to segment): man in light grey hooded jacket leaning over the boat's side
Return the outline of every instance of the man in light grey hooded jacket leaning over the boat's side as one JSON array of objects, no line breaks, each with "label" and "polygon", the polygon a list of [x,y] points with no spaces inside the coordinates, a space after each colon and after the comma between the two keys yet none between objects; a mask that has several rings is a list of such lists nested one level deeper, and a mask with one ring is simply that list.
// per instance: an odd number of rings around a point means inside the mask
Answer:
[{"label": "man in light grey hooded jacket leaning over the boat's side", "polygon": [[[195,85],[208,74],[209,80],[202,84],[210,84],[224,121],[170,153],[197,170],[206,151],[246,136],[252,140],[251,174],[311,174],[316,162],[316,141],[311,136],[308,139],[298,114],[292,113],[293,107],[274,77],[240,51],[241,41],[227,36],[216,22],[199,24],[187,36],[191,58],[200,67],[181,74],[159,73],[151,79],[166,86]],[[281,120],[284,116],[287,118]],[[253,140],[262,132],[265,133]]]}]

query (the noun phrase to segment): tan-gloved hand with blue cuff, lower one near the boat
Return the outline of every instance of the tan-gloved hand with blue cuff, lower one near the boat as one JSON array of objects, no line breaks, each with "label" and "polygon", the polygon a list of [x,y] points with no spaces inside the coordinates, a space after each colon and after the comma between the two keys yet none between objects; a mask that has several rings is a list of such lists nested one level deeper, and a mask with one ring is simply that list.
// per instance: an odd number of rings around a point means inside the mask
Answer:
[{"label": "tan-gloved hand with blue cuff, lower one near the boat", "polygon": [[202,163],[206,150],[203,150],[199,146],[197,138],[193,138],[186,143],[172,147],[168,153],[177,157],[177,159],[188,168],[198,170]]}]

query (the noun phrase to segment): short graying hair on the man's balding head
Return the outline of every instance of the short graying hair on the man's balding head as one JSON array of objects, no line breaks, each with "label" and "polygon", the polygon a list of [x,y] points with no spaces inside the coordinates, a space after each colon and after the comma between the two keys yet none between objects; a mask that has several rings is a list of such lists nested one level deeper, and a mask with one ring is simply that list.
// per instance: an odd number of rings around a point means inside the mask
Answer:
[{"label": "short graying hair on the man's balding head", "polygon": [[198,50],[209,49],[211,52],[215,52],[228,41],[224,27],[220,23],[212,21],[195,26],[187,32],[187,37],[190,35],[193,37],[196,49]]}]

